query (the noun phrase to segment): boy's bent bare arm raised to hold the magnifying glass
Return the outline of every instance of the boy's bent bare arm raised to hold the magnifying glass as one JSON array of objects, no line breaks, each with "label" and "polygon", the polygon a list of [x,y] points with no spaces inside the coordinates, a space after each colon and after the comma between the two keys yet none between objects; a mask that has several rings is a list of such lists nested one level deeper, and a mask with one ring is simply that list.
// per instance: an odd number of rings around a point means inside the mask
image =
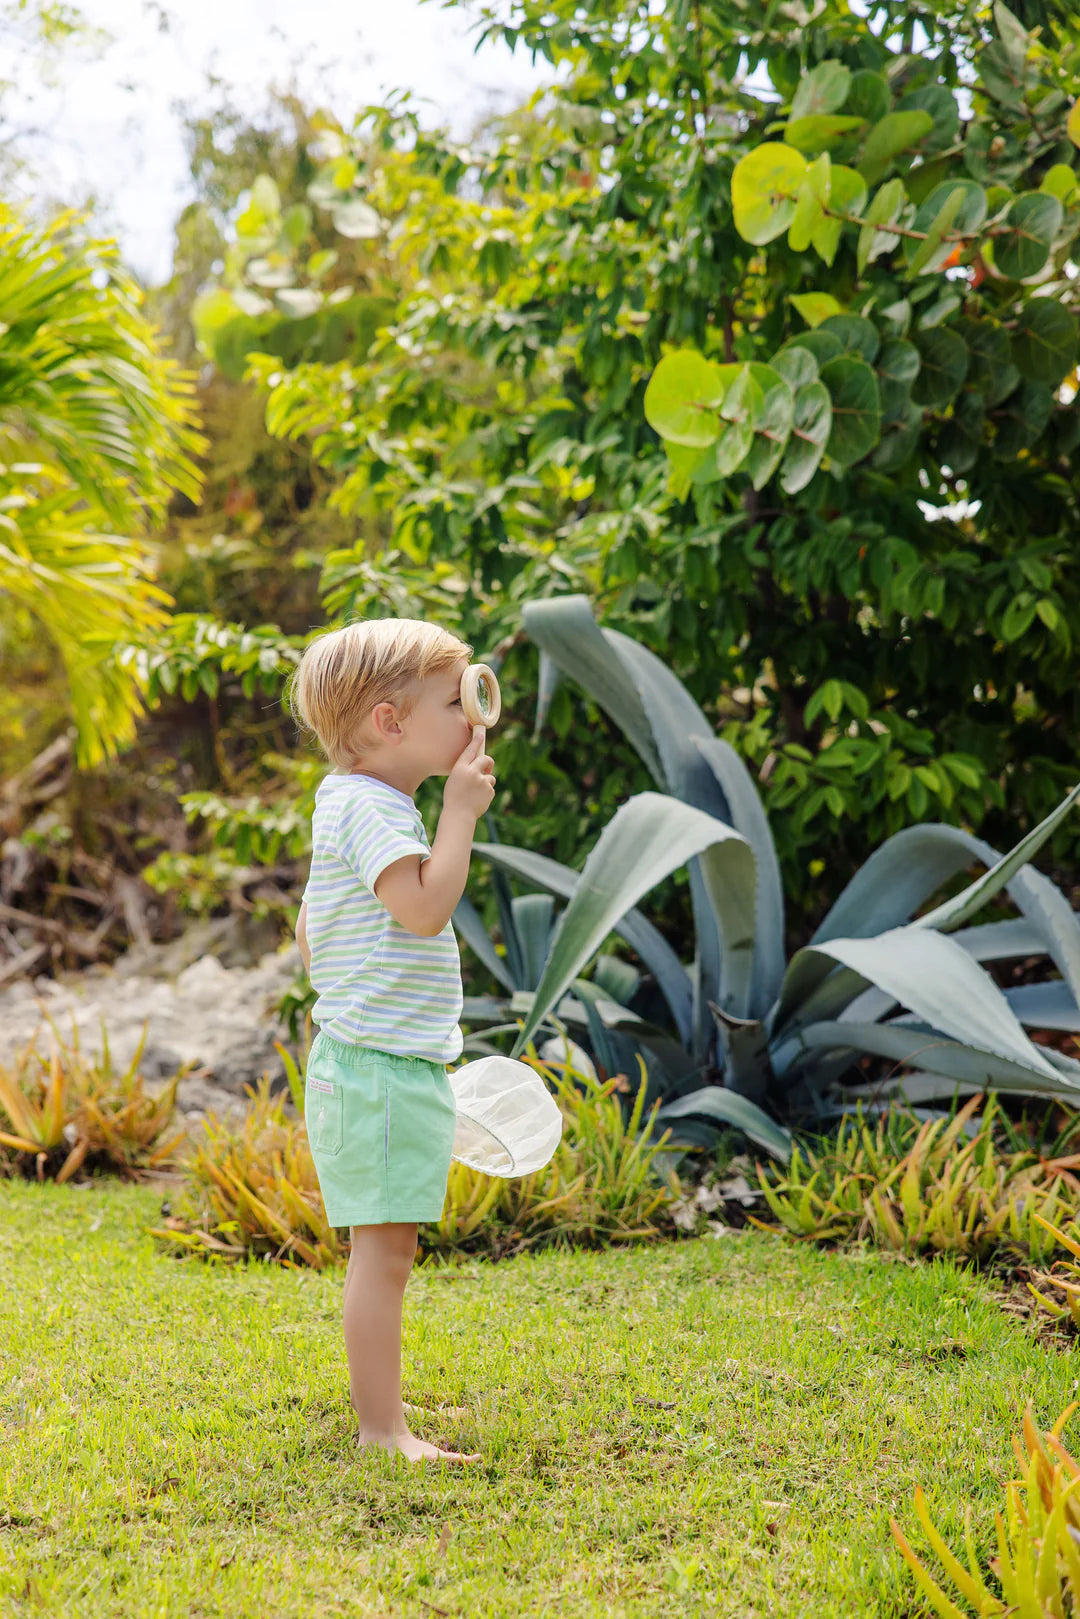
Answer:
[{"label": "boy's bent bare arm raised to hold the magnifying glass", "polygon": [[434,939],[465,894],[476,822],[495,797],[494,759],[484,753],[484,730],[473,740],[447,777],[439,831],[427,860],[405,855],[376,881],[376,899],[393,920],[421,939]]}]

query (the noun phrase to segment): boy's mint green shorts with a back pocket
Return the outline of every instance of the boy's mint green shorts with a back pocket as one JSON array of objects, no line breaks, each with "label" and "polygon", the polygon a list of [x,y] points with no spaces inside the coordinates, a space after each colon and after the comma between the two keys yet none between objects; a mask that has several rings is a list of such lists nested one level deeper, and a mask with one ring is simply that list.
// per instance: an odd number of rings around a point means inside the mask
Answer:
[{"label": "boy's mint green shorts with a back pocket", "polygon": [[457,1124],[442,1062],[319,1033],[304,1115],[330,1226],[439,1219]]}]

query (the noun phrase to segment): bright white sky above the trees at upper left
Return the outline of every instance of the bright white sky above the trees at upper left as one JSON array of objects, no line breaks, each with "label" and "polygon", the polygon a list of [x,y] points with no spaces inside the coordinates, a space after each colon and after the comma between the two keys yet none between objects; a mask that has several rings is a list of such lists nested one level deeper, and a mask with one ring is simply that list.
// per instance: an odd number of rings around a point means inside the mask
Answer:
[{"label": "bright white sky above the trees at upper left", "polygon": [[[70,49],[55,83],[23,74],[8,110],[32,160],[31,185],[60,201],[94,198],[100,223],[147,282],[170,274],[173,220],[191,196],[183,108],[209,105],[207,74],[257,113],[270,84],[350,120],[390,89],[431,102],[432,123],[465,136],[479,113],[544,81],[520,49],[473,50],[465,6],[419,0],[79,0],[104,31]],[[551,71],[551,70],[547,70]]]}]

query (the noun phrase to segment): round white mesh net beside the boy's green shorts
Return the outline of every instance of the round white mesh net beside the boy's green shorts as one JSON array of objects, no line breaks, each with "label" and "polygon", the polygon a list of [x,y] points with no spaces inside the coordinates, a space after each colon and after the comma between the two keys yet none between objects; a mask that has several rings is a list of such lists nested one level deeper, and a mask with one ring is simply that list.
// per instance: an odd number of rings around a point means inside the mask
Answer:
[{"label": "round white mesh net beside the boy's green shorts", "polygon": [[486,1175],[531,1175],[559,1146],[562,1114],[539,1073],[513,1057],[479,1057],[450,1075],[458,1109],[453,1156]]}]

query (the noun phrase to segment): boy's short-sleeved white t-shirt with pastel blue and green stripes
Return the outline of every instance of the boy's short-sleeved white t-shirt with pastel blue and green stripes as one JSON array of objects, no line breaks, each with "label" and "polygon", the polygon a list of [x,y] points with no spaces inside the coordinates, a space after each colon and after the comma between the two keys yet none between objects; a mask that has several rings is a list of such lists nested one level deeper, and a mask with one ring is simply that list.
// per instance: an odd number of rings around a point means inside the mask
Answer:
[{"label": "boy's short-sleeved white t-shirt with pastel blue and green stripes", "polygon": [[308,945],[324,1035],[402,1057],[461,1054],[461,957],[452,923],[423,939],[374,894],[403,855],[427,860],[419,810],[374,776],[324,776],[311,822]]}]

